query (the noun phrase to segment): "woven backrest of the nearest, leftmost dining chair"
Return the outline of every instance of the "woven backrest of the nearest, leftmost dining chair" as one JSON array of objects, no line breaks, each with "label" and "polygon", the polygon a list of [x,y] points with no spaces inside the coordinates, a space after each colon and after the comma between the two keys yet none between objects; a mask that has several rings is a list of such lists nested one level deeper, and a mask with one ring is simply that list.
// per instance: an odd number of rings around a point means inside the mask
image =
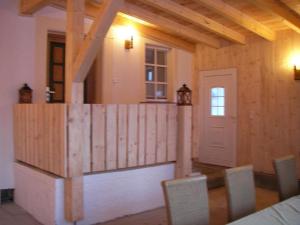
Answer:
[{"label": "woven backrest of the nearest, leftmost dining chair", "polygon": [[206,176],[163,181],[170,225],[208,225]]}]

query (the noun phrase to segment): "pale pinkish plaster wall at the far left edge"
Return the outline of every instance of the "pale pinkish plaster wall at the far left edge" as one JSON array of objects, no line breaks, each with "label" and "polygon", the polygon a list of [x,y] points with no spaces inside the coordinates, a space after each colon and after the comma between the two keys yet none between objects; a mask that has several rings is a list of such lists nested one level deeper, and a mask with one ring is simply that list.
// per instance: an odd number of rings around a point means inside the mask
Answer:
[{"label": "pale pinkish plaster wall at the far left edge", "polygon": [[18,89],[35,89],[35,22],[18,15],[18,0],[0,1],[0,189],[12,188],[13,105]]}]

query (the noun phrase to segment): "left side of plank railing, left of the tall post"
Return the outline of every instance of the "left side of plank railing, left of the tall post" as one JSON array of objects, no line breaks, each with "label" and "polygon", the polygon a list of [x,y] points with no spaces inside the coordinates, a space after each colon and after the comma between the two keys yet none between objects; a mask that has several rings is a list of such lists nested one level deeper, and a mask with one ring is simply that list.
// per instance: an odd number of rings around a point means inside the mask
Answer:
[{"label": "left side of plank railing, left of the tall post", "polygon": [[15,105],[15,159],[66,177],[66,114],[63,104]]}]

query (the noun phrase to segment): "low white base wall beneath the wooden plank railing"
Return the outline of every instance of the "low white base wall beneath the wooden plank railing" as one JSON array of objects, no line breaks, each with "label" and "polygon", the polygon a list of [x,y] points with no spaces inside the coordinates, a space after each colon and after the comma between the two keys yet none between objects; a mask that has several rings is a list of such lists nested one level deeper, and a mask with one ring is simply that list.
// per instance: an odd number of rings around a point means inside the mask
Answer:
[{"label": "low white base wall beneath the wooden plank railing", "polygon": [[[89,225],[164,205],[161,181],[174,178],[174,164],[84,176],[84,219]],[[70,225],[64,219],[64,185],[15,163],[15,200],[45,225]]]}]

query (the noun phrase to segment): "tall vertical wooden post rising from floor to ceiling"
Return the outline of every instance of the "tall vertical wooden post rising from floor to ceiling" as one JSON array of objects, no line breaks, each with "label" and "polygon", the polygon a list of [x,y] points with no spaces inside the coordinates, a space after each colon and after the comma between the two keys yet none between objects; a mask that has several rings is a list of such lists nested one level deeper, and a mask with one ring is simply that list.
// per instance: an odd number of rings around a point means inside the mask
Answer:
[{"label": "tall vertical wooden post rising from floor to ceiling", "polygon": [[[66,28],[66,103],[68,106],[67,176],[65,179],[65,218],[70,222],[83,219],[83,83],[74,83],[74,61],[84,38],[83,0],[67,1]],[[77,103],[77,104],[74,104]],[[78,104],[79,103],[79,104]]]}]

